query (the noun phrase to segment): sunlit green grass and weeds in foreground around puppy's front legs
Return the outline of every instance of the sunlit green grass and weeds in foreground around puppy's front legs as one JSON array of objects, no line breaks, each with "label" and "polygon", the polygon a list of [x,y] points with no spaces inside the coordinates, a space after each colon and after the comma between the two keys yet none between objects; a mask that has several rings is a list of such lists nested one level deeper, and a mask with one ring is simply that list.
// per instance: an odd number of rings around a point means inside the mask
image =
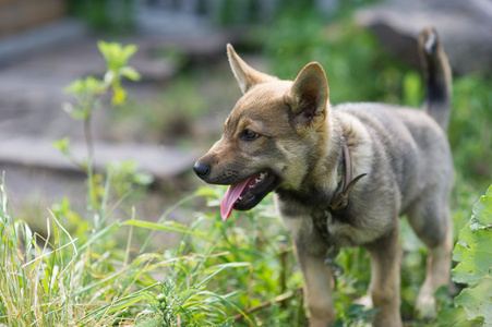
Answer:
[{"label": "sunlit green grass and weeds in foreground around puppy's front legs", "polygon": [[[197,214],[190,227],[167,219],[172,208],[157,222],[133,218],[100,223],[108,220],[98,214],[87,221],[63,201],[51,208],[47,220],[51,233],[41,240],[46,245],[39,246],[40,237],[8,214],[4,191],[3,185],[0,295],[5,305],[0,307],[0,323],[305,325],[302,294],[298,291],[301,276],[295,271],[291,247],[274,218],[272,198],[252,213],[235,214],[221,223],[215,208],[223,189],[201,189],[183,203],[205,196],[214,209]],[[110,206],[100,207],[108,208],[100,214],[112,215]],[[265,223],[271,228],[262,229]],[[77,229],[71,234],[63,228],[67,225]],[[122,228],[130,228],[125,250],[111,238]],[[132,250],[133,228],[178,233],[180,241],[164,253],[147,252],[148,243]],[[21,249],[22,253],[17,251]],[[350,274],[340,278],[340,293],[353,293],[355,283]],[[348,307],[350,296],[339,300]],[[339,315],[338,326],[361,326],[371,312],[350,306]]]}]

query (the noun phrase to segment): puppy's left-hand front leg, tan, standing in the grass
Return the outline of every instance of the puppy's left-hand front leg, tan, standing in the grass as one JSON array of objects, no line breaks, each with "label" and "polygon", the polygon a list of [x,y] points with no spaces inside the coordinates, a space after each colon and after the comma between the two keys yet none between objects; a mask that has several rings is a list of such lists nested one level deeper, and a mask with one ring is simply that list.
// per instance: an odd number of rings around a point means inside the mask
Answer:
[{"label": "puppy's left-hand front leg, tan, standing in the grass", "polygon": [[332,288],[333,274],[324,263],[325,252],[313,254],[302,241],[295,241],[296,255],[304,277],[304,299],[310,313],[310,327],[326,327],[335,322]]}]

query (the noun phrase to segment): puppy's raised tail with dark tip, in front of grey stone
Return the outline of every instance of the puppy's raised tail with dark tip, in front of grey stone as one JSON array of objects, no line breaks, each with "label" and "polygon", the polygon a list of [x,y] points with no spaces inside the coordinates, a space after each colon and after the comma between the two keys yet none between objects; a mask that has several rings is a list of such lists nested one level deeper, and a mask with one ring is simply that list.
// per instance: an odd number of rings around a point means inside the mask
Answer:
[{"label": "puppy's raised tail with dark tip, in front of grey stone", "polygon": [[452,74],[434,28],[428,27],[420,33],[419,52],[427,84],[423,109],[446,131],[451,111]]}]

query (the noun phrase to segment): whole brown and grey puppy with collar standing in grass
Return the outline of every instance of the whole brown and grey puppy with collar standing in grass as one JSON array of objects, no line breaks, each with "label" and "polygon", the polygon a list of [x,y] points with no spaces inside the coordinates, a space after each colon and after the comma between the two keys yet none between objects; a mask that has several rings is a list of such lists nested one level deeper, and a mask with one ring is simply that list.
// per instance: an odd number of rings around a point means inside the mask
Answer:
[{"label": "whole brown and grey puppy with collar standing in grass", "polygon": [[422,32],[419,48],[428,83],[423,110],[383,104],[332,107],[319,63],[305,65],[293,82],[279,81],[227,47],[243,96],[221,138],[194,170],[207,183],[231,185],[223,199],[223,219],[232,208],[251,209],[275,192],[304,276],[310,326],[334,322],[333,275],[325,258],[340,246],[369,250],[369,295],[381,308],[374,325],[403,325],[401,215],[429,250],[417,300],[422,315],[435,314],[433,293],[448,282],[454,172],[445,130],[451,72],[434,29]]}]

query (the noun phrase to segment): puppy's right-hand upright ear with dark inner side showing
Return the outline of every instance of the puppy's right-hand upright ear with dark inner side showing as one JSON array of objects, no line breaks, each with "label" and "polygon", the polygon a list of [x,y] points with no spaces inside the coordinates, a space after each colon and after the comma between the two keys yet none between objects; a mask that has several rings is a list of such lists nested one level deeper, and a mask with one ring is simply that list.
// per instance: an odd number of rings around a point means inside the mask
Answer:
[{"label": "puppy's right-hand upright ear with dark inner side showing", "polygon": [[317,129],[323,124],[328,93],[328,82],[323,68],[317,62],[308,63],[286,95],[286,102],[296,117],[296,128]]}]

